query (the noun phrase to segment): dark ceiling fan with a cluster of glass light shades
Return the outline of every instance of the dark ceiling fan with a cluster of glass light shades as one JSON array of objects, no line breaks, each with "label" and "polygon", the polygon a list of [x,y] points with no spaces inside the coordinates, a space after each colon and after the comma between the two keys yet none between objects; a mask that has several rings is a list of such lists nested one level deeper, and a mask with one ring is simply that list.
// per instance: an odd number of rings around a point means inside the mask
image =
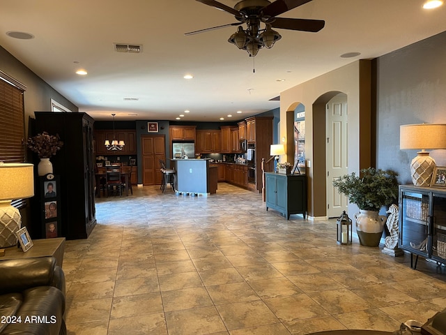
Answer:
[{"label": "dark ceiling fan with a cluster of glass light shades", "polygon": [[[288,10],[302,6],[312,0],[242,0],[236,3],[234,8],[224,5],[215,0],[196,0],[208,6],[224,10],[236,17],[238,22],[223,24],[222,26],[210,27],[186,33],[186,36],[203,33],[230,26],[239,26],[236,33],[232,34],[228,42],[235,44],[240,50],[246,50],[249,57],[255,57],[262,47],[270,49],[282,36],[272,28],[290,29],[298,31],[311,31],[316,33],[323,29],[325,21],[309,19],[290,19],[277,17]],[[243,29],[241,24],[247,24]],[[265,24],[261,28],[261,23]]]}]

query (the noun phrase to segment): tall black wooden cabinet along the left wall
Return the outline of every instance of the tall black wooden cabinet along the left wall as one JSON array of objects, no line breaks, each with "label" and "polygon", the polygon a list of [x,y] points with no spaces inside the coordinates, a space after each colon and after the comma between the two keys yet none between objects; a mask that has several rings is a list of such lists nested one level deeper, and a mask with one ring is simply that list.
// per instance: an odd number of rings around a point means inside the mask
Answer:
[{"label": "tall black wooden cabinet along the left wall", "polygon": [[86,239],[96,224],[94,119],[82,112],[35,114],[36,134],[43,131],[50,135],[57,133],[63,141],[61,150],[50,159],[54,174],[60,177],[62,236],[67,239]]}]

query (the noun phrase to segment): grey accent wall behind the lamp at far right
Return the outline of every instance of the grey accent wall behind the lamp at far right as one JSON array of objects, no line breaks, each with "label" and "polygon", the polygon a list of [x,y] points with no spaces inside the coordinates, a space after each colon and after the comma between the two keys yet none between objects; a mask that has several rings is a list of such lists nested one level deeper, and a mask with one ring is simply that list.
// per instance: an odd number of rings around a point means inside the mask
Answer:
[{"label": "grey accent wall behind the lamp at far right", "polygon": [[[411,184],[417,150],[399,149],[402,124],[446,124],[446,32],[374,60],[376,69],[376,166]],[[427,148],[425,148],[427,149]],[[446,150],[431,151],[446,165]]]}]

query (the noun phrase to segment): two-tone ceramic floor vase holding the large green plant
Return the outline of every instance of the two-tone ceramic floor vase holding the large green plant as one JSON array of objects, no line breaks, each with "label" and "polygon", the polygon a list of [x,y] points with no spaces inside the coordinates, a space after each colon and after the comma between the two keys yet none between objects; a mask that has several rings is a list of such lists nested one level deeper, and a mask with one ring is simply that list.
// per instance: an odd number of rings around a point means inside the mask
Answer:
[{"label": "two-tone ceramic floor vase holding the large green plant", "polygon": [[360,244],[362,246],[379,246],[387,216],[378,215],[378,211],[360,209],[360,212],[356,213],[354,217]]}]

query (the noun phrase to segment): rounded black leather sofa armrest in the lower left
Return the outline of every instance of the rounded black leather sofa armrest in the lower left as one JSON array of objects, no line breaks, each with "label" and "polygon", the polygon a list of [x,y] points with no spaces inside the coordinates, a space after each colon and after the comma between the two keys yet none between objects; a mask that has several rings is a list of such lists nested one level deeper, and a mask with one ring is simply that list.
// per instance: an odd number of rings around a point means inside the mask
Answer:
[{"label": "rounded black leather sofa armrest in the lower left", "polygon": [[[59,273],[54,275],[55,269],[56,258],[54,257],[2,260],[0,261],[0,294],[22,292],[36,286],[54,285],[54,280],[57,278],[63,279],[64,288],[64,277],[63,275],[61,277]],[[54,286],[58,287],[58,285]]]}]

